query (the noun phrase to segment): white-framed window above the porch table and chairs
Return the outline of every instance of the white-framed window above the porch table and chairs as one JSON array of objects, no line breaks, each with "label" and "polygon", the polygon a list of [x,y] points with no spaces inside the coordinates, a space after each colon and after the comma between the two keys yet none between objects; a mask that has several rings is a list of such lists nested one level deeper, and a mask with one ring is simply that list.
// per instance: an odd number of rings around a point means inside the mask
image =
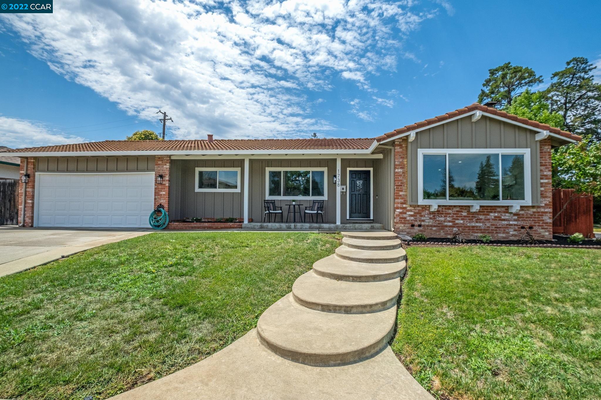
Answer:
[{"label": "white-framed window above the porch table and chairs", "polygon": [[327,168],[267,168],[266,199],[328,200]]}]

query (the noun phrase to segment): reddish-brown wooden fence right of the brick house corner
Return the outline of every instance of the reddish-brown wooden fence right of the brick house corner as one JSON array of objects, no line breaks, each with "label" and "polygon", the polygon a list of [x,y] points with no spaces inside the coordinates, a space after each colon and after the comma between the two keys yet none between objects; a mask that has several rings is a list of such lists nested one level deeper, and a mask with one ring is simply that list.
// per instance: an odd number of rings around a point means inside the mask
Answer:
[{"label": "reddish-brown wooden fence right of the brick house corner", "polygon": [[553,233],[578,232],[585,237],[594,237],[593,196],[575,193],[573,189],[554,189],[553,217]]}]

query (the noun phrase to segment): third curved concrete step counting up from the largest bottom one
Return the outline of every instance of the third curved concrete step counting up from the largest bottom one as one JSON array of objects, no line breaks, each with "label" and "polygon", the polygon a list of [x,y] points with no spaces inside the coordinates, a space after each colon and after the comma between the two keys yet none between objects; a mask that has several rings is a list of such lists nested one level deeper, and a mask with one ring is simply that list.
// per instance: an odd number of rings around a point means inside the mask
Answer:
[{"label": "third curved concrete step counting up from the largest bottom one", "polygon": [[336,257],[335,254],[317,260],[313,272],[324,278],[347,282],[374,282],[400,278],[404,275],[406,262],[386,264],[356,263]]}]

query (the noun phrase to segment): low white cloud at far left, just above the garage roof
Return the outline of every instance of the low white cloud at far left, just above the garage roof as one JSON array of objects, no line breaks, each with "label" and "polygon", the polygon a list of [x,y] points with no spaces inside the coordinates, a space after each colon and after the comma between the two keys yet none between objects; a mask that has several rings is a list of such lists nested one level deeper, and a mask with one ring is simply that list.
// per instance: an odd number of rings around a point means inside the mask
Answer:
[{"label": "low white cloud at far left, just above the garage roof", "polygon": [[0,116],[0,145],[13,149],[85,142],[83,137],[50,130],[43,124]]}]

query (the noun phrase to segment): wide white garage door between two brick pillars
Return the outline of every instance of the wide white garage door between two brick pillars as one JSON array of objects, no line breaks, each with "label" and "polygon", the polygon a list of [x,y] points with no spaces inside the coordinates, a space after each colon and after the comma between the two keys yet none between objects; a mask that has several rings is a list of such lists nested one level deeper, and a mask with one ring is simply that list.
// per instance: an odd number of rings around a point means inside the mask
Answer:
[{"label": "wide white garage door between two brick pillars", "polygon": [[154,173],[40,173],[39,227],[143,227],[153,210]]}]

